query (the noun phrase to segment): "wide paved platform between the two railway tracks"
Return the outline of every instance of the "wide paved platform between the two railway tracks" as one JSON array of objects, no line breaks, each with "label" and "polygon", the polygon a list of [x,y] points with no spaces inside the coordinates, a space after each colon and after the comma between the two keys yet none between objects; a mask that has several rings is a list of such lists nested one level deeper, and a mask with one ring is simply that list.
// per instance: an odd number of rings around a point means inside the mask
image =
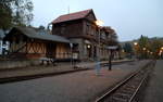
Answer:
[{"label": "wide paved platform between the two railway tracks", "polygon": [[0,85],[0,102],[93,102],[95,99],[145,66],[149,61]]}]

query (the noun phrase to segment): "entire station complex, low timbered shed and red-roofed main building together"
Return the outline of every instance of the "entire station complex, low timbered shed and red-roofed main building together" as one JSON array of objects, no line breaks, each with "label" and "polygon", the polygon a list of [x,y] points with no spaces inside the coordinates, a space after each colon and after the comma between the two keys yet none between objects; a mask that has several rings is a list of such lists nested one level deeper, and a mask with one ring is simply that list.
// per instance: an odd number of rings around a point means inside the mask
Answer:
[{"label": "entire station complex, low timbered shed and red-roofed main building together", "polygon": [[51,22],[52,31],[34,27],[14,27],[4,37],[15,58],[95,61],[109,59],[108,46],[116,44],[111,27],[96,24],[93,11],[61,15]]}]

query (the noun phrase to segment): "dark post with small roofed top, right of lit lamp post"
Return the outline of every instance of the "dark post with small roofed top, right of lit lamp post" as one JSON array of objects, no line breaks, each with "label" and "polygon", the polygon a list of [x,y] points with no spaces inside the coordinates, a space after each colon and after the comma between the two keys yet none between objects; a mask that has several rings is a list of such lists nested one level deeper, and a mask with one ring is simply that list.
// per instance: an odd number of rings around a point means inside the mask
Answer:
[{"label": "dark post with small roofed top, right of lit lamp post", "polygon": [[110,50],[110,56],[109,56],[109,71],[112,71],[112,58],[113,58],[113,51],[117,49],[117,46],[109,46],[106,49]]}]

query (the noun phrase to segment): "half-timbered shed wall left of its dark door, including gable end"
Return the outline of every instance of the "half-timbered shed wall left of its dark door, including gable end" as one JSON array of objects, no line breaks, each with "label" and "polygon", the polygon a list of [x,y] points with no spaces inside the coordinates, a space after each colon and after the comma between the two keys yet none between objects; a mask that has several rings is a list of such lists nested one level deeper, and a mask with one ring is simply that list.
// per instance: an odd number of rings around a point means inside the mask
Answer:
[{"label": "half-timbered shed wall left of its dark door, including gable end", "polygon": [[29,59],[46,56],[45,42],[34,39],[25,39],[25,37],[22,35],[14,35],[11,37],[10,53],[24,54]]}]

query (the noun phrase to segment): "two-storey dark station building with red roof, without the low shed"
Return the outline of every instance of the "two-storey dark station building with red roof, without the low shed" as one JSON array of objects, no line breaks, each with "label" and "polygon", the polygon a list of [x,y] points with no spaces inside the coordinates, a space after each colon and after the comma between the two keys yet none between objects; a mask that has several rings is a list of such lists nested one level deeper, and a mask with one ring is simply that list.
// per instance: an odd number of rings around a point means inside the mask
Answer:
[{"label": "two-storey dark station building with red roof, without the low shed", "polygon": [[109,51],[105,47],[110,41],[111,28],[99,27],[96,21],[92,10],[61,15],[51,23],[52,35],[70,39],[73,42],[73,52],[82,61],[92,61],[99,52],[100,59],[108,59]]}]

